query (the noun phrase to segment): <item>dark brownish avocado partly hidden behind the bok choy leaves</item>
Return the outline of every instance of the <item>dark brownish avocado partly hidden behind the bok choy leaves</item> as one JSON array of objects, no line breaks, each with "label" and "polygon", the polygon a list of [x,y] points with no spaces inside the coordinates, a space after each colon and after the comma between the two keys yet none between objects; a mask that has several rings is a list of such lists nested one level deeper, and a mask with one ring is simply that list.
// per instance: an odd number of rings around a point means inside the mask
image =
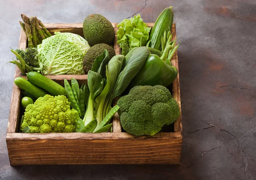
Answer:
[{"label": "dark brownish avocado partly hidden behind the bok choy leaves", "polygon": [[89,70],[92,69],[93,62],[96,59],[96,57],[101,55],[105,49],[108,50],[110,59],[116,55],[115,50],[110,45],[107,45],[104,43],[96,44],[87,51],[83,61],[84,72],[86,74],[88,73]]}]

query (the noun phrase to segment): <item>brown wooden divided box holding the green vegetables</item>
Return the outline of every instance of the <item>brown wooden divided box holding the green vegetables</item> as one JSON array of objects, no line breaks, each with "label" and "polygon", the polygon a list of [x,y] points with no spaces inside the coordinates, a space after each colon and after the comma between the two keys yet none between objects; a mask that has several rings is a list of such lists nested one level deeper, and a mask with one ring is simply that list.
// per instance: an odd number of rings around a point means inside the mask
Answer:
[{"label": "brown wooden divided box holding the green vegetables", "polygon": [[[115,32],[116,23],[112,23]],[[154,23],[148,23],[152,27]],[[55,31],[72,32],[83,36],[82,24],[45,24],[53,34]],[[176,38],[175,24],[172,25],[173,39]],[[27,47],[26,35],[20,33],[19,48]],[[116,54],[119,45],[114,41]],[[178,69],[177,52],[172,64]],[[15,78],[22,76],[16,68]],[[87,82],[87,75],[47,76],[63,85],[63,79]],[[172,95],[180,107],[179,74],[172,83]],[[6,143],[11,166],[38,164],[180,164],[182,124],[180,117],[167,132],[154,136],[134,136],[122,132],[119,116],[113,117],[113,132],[105,133],[20,133],[20,110],[22,94],[14,84],[9,113]],[[115,102],[114,102],[115,103]],[[171,129],[171,130],[170,130]],[[169,132],[168,132],[169,131]],[[170,132],[172,131],[172,132]]]}]

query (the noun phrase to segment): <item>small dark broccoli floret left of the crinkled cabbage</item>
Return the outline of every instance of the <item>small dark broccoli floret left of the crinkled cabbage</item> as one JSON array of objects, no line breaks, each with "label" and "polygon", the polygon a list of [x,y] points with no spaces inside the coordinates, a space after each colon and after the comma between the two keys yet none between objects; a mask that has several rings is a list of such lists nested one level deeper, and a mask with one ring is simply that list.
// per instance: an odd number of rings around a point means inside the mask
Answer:
[{"label": "small dark broccoli floret left of the crinkled cabbage", "polygon": [[16,49],[15,51],[24,59],[27,65],[38,67],[39,62],[38,62],[38,59],[36,58],[36,56],[38,55],[37,48],[26,48],[25,51]]}]

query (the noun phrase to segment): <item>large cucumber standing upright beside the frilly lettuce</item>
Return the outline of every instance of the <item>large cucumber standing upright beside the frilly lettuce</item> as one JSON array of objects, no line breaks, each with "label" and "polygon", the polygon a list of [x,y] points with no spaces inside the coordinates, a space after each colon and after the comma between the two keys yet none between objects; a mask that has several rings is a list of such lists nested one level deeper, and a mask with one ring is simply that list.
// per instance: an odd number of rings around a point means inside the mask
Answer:
[{"label": "large cucumber standing upright beside the frilly lettuce", "polygon": [[172,29],[172,21],[173,10],[171,6],[169,8],[165,8],[162,13],[157,17],[157,20],[154,23],[154,27],[149,34],[148,41],[151,40],[149,47],[162,51],[161,38],[164,31]]}]

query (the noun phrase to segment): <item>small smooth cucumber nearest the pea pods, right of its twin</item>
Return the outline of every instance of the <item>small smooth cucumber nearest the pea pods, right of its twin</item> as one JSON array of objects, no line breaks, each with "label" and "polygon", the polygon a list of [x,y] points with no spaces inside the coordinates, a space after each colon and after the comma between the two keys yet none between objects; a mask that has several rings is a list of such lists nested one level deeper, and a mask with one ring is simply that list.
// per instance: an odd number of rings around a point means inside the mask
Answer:
[{"label": "small smooth cucumber nearest the pea pods, right of its twin", "polygon": [[31,82],[32,84],[35,84],[36,86],[41,87],[44,90],[47,90],[50,94],[54,96],[67,95],[64,87],[62,87],[57,82],[52,81],[52,79],[49,79],[40,73],[30,71],[27,73],[27,78],[29,79],[29,82]]}]

